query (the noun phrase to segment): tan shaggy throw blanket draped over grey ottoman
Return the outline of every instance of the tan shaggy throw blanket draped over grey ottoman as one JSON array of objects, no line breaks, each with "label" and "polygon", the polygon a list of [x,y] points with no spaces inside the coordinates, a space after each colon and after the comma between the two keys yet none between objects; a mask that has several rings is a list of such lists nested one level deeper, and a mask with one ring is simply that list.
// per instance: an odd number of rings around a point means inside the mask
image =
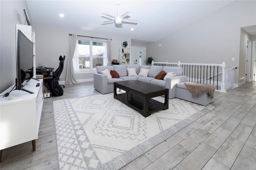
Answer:
[{"label": "tan shaggy throw blanket draped over grey ottoman", "polygon": [[203,93],[208,93],[210,98],[213,98],[215,86],[212,84],[197,84],[184,83],[188,90],[192,93],[192,97],[199,96]]}]

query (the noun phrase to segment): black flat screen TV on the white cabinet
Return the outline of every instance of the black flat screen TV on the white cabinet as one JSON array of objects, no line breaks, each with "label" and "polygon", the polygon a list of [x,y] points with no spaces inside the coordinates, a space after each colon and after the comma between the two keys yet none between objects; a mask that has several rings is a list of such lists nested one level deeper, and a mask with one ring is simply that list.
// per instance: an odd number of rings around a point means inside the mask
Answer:
[{"label": "black flat screen TV on the white cabinet", "polygon": [[[17,38],[17,78],[16,78],[16,89],[24,90],[29,93],[29,90],[23,87],[33,77],[33,43],[20,31],[18,30]],[[29,72],[29,76],[25,73]]]}]

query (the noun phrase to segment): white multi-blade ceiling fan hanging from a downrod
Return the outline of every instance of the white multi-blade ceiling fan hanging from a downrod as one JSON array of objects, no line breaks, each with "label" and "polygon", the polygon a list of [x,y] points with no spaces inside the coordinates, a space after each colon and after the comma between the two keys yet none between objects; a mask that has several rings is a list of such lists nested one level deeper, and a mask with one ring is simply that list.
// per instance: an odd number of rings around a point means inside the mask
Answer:
[{"label": "white multi-blade ceiling fan hanging from a downrod", "polygon": [[119,16],[119,5],[120,5],[120,1],[116,2],[117,4],[117,17],[114,17],[114,16],[111,16],[109,14],[106,14],[106,13],[102,13],[103,15],[106,15],[106,16],[102,16],[102,18],[106,18],[108,19],[109,21],[105,21],[102,23],[102,25],[106,25],[106,24],[112,24],[112,23],[115,23],[116,24],[116,27],[122,27],[122,24],[134,24],[134,25],[137,25],[138,24],[138,20],[130,20],[130,19],[127,19],[127,18],[130,18],[130,16],[128,16],[127,14],[129,14],[130,12],[129,11],[126,11],[124,14],[122,14],[121,16]]}]

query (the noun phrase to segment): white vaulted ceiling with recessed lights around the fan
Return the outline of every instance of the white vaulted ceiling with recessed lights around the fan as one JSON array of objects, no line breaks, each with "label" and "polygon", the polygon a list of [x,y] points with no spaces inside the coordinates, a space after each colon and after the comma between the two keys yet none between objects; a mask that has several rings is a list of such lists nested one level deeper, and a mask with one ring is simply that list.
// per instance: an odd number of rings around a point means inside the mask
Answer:
[{"label": "white vaulted ceiling with recessed lights around the fan", "polygon": [[[129,37],[143,42],[155,42],[182,27],[222,8],[226,0],[121,0],[120,15],[126,11],[137,25],[102,25],[107,21],[102,13],[117,16],[113,0],[27,0],[32,25],[43,25],[71,30],[84,30],[84,36],[105,34]],[[59,16],[60,13],[64,17]],[[130,29],[134,28],[134,31]],[[72,32],[70,32],[72,33]]]}]

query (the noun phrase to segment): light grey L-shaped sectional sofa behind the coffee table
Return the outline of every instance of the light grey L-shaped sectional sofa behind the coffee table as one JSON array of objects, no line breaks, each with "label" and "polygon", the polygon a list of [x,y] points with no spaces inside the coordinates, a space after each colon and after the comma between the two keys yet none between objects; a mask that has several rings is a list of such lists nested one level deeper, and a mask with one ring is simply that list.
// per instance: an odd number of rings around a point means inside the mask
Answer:
[{"label": "light grey L-shaped sectional sofa behind the coffee table", "polygon": [[[118,72],[120,78],[108,78],[107,75],[101,72],[106,70],[115,70]],[[140,69],[149,69],[148,76],[128,76],[127,68],[136,68],[136,74],[140,73]],[[137,80],[146,82],[169,89],[169,98],[175,98],[176,96],[176,84],[180,82],[186,82],[187,76],[182,76],[182,68],[180,67],[168,67],[168,66],[138,66],[138,65],[113,65],[113,66],[96,66],[97,73],[94,73],[94,88],[102,94],[114,92],[114,82]],[[166,78],[166,80],[155,79],[155,76],[164,70],[166,73],[174,72],[176,76]],[[145,87],[146,88],[146,87]]]}]

